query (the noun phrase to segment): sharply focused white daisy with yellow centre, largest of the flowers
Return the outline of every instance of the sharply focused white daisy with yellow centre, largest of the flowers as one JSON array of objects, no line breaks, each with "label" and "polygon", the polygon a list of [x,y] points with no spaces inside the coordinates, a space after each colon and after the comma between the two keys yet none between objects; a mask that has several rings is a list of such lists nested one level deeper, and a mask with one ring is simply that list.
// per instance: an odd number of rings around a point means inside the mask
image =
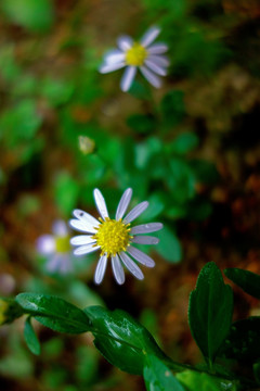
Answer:
[{"label": "sharply focused white daisy with yellow centre, largest of the flowers", "polygon": [[[101,215],[99,220],[83,211],[75,210],[73,212],[76,218],[70,219],[70,226],[87,234],[70,239],[70,243],[78,247],[74,251],[74,254],[84,255],[98,250],[101,251],[94,275],[95,283],[102,282],[109,258],[112,261],[113,274],[119,285],[125,282],[122,265],[140,280],[143,279],[144,276],[136,265],[136,262],[147,267],[154,267],[155,265],[154,260],[132,244],[157,244],[159,241],[158,238],[140,236],[140,234],[157,231],[162,228],[162,224],[150,223],[132,227],[131,223],[146,210],[148,202],[141,202],[125,216],[131,197],[132,189],[129,188],[120,199],[115,219],[109,217],[104,197],[99,189],[94,189],[94,201]],[[134,258],[134,261],[132,258]]]}]

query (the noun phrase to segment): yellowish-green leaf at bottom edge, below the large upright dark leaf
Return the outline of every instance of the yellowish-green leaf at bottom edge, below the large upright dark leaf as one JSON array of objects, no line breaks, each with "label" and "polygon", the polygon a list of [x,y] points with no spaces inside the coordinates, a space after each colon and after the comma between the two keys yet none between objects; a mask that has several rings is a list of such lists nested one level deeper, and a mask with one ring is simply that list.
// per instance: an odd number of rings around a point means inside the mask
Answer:
[{"label": "yellowish-green leaf at bottom edge, below the large upright dark leaf", "polygon": [[184,370],[176,375],[177,379],[187,388],[188,391],[235,391],[236,386],[224,379],[219,379],[207,374],[194,370]]}]

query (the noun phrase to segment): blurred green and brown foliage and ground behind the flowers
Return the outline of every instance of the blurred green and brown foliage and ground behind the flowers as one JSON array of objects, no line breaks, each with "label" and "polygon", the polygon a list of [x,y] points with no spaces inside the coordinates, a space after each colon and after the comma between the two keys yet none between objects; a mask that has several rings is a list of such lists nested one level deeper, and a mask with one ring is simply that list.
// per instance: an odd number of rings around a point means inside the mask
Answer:
[{"label": "blurred green and brown foliage and ground behind the flowers", "polygon": [[[200,360],[186,321],[198,269],[214,261],[260,272],[259,18],[258,0],[0,2],[1,295],[29,290],[121,307],[173,358]],[[169,46],[169,75],[159,90],[139,76],[123,93],[120,71],[99,74],[103,53],[153,24]],[[118,287],[107,275],[95,287],[95,256],[61,276],[36,253],[54,219],[74,207],[96,213],[95,187],[112,212],[132,187],[133,204],[151,203],[140,222],[165,224],[144,281],[128,276]],[[236,294],[237,316],[260,312]],[[20,320],[0,330],[2,388],[144,389],[105,363],[90,336],[37,325],[35,357],[17,325],[22,333]]]}]

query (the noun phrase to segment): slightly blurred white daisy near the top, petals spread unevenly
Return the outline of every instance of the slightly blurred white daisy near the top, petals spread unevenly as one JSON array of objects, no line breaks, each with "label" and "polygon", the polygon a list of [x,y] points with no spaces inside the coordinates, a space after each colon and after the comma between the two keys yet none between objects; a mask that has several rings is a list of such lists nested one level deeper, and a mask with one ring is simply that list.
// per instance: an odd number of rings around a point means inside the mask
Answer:
[{"label": "slightly blurred white daisy near the top, petals spread unevenly", "polygon": [[117,40],[119,49],[106,53],[100,72],[108,73],[126,66],[120,87],[122,91],[128,91],[139,68],[148,83],[159,88],[161,86],[159,76],[166,76],[169,65],[168,58],[162,55],[168,50],[167,45],[153,43],[159,33],[157,26],[151,27],[140,42],[133,41],[129,36],[119,37]]}]

